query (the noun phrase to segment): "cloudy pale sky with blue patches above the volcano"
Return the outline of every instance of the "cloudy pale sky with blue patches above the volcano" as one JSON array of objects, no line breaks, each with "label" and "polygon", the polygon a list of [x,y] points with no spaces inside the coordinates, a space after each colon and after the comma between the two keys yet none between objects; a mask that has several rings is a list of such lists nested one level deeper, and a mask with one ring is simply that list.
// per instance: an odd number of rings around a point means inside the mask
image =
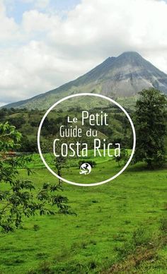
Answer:
[{"label": "cloudy pale sky with blue patches above the volcano", "polygon": [[167,1],[0,0],[0,106],[136,51],[167,73]]}]

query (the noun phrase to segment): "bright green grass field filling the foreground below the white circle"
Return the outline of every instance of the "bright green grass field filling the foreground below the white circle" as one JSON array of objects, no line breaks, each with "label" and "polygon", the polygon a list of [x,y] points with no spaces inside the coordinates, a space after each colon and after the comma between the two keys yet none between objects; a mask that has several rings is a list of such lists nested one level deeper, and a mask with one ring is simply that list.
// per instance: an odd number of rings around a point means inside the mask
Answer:
[{"label": "bright green grass field filling the foreground below the white circle", "polygon": [[[57,182],[38,155],[33,161],[29,179],[36,188]],[[110,174],[110,161],[95,168],[103,165]],[[67,172],[77,181],[78,172]],[[27,174],[21,170],[20,176]],[[102,186],[63,183],[77,216],[35,216],[1,234],[0,273],[167,273],[166,182],[166,169],[146,171],[138,164]]]}]

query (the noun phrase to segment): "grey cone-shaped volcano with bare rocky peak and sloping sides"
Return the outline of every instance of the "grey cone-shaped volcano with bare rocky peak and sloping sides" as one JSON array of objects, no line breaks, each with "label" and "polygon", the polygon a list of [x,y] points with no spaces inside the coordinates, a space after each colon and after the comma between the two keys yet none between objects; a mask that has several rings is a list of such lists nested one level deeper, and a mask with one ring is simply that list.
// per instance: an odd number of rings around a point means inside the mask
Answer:
[{"label": "grey cone-shaped volcano with bare rocky peak and sloping sides", "polygon": [[47,93],[5,107],[47,109],[60,98],[74,93],[101,93],[110,97],[133,97],[143,88],[157,88],[167,94],[167,75],[137,52],[109,57],[88,73]]}]

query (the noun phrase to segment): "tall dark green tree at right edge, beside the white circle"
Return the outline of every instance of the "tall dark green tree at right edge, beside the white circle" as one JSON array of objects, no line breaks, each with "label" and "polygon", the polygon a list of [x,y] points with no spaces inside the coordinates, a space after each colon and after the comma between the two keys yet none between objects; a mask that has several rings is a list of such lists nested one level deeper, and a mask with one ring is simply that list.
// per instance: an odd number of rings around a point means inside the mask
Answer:
[{"label": "tall dark green tree at right edge, beside the white circle", "polygon": [[135,112],[137,148],[134,160],[144,161],[149,168],[165,161],[166,96],[151,88],[139,93]]}]

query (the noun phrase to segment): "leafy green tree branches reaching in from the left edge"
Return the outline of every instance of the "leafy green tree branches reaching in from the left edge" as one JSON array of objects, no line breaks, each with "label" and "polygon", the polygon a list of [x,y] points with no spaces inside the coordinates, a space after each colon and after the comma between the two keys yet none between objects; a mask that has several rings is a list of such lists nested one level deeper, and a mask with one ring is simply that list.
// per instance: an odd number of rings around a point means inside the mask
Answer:
[{"label": "leafy green tree branches reaching in from the left edge", "polygon": [[32,181],[18,178],[19,168],[27,169],[30,174],[27,167],[30,159],[11,153],[20,141],[21,133],[15,126],[0,124],[0,184],[4,184],[0,191],[0,227],[6,232],[20,227],[23,216],[70,213],[67,198],[55,193],[62,190],[61,186],[45,183],[35,191]]}]

